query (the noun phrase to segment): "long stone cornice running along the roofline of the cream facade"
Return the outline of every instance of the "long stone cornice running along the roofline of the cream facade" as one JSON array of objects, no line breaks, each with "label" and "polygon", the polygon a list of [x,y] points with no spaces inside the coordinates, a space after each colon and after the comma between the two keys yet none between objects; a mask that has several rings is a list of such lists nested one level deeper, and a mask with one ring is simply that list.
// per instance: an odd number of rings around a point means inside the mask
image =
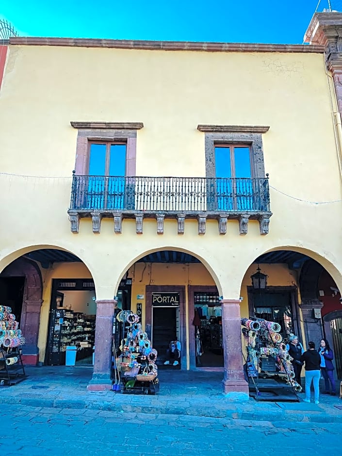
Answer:
[{"label": "long stone cornice running along the roofline of the cream facade", "polygon": [[149,50],[180,50],[206,52],[314,52],[323,53],[323,46],[263,43],[212,43],[188,41],[107,40],[94,38],[54,38],[16,36],[12,46],[72,46],[85,48],[118,48]]}]

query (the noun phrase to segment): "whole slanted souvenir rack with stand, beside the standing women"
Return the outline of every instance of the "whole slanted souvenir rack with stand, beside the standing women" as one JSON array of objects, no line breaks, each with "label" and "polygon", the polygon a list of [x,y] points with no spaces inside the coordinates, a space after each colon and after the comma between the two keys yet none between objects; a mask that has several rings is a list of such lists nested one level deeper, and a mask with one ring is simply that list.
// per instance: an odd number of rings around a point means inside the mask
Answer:
[{"label": "whole slanted souvenir rack with stand, beside the standing women", "polygon": [[[258,398],[259,377],[278,375],[292,387],[295,396],[302,387],[294,379],[291,356],[279,334],[281,326],[258,318],[242,318],[242,333],[246,343],[246,371],[248,382],[254,383]],[[297,397],[298,398],[298,397]]]}]

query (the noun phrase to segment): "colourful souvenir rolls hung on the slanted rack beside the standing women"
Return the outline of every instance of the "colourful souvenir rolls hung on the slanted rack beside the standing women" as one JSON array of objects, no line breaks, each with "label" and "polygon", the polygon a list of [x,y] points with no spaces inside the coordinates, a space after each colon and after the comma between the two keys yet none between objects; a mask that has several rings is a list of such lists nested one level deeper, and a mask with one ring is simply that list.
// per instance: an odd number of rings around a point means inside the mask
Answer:
[{"label": "colourful souvenir rolls hung on the slanted rack beside the standing women", "polygon": [[[281,326],[275,322],[266,320],[241,319],[242,333],[246,342],[247,374],[249,377],[257,377],[259,373],[259,358],[271,356],[275,359],[278,375],[284,375],[287,383],[295,391],[302,391],[302,387],[294,379],[293,365],[286,345],[279,334]],[[258,343],[257,343],[258,342]]]}]

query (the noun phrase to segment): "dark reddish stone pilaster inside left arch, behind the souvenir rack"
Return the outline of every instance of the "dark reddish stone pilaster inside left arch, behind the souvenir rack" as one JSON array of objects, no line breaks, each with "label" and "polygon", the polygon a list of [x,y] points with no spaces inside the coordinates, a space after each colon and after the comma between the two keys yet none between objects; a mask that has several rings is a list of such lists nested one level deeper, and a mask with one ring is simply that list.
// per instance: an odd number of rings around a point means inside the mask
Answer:
[{"label": "dark reddish stone pilaster inside left arch, behind the souvenir rack", "polygon": [[39,361],[38,334],[40,309],[42,299],[27,299],[25,303],[24,321],[21,325],[22,335],[25,337],[23,345],[23,362],[35,366]]}]

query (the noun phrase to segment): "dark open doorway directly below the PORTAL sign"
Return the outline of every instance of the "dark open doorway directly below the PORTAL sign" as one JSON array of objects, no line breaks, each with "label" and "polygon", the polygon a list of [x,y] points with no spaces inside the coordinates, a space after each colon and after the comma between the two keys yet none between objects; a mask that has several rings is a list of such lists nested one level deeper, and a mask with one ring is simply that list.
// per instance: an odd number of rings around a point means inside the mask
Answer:
[{"label": "dark open doorway directly below the PORTAL sign", "polygon": [[158,352],[158,365],[166,360],[166,350],[175,337],[179,339],[179,307],[153,307],[151,342]]}]

